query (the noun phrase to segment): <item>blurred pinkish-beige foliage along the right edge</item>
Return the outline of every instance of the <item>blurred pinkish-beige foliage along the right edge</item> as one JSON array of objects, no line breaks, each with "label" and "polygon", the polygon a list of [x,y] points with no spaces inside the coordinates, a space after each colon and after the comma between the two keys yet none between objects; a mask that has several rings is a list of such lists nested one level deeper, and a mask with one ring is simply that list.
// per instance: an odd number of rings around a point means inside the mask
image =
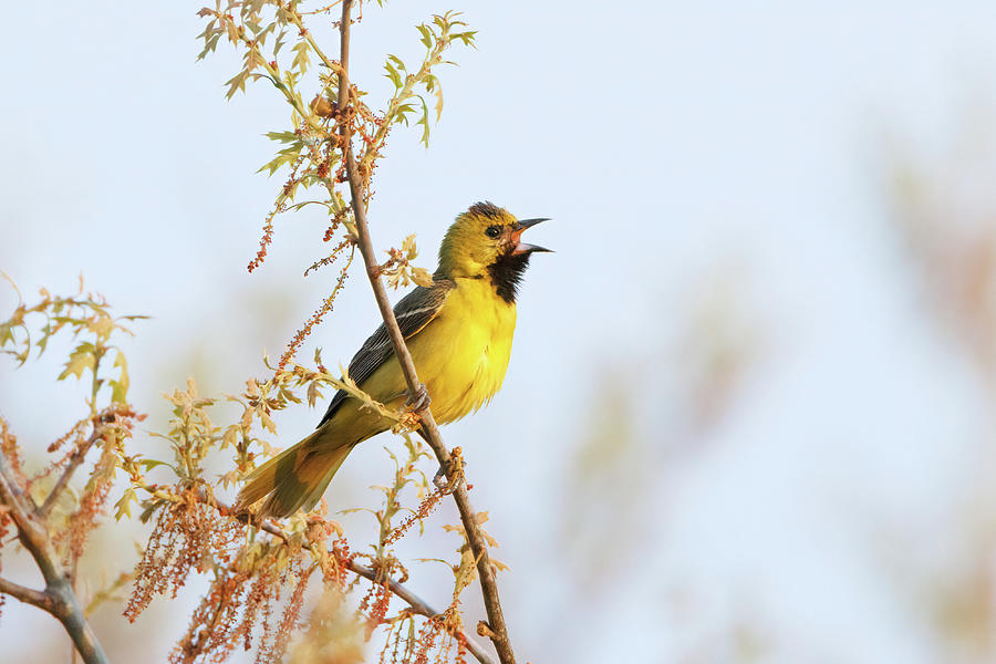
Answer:
[{"label": "blurred pinkish-beige foliage along the right edge", "polygon": [[[910,145],[907,142],[904,145]],[[967,110],[938,155],[894,148],[889,172],[892,220],[925,304],[957,355],[996,403],[996,125],[992,108]],[[996,422],[979,448],[967,505],[946,533],[956,553],[941,571],[915,579],[925,587],[930,619],[951,661],[996,658]]]}]

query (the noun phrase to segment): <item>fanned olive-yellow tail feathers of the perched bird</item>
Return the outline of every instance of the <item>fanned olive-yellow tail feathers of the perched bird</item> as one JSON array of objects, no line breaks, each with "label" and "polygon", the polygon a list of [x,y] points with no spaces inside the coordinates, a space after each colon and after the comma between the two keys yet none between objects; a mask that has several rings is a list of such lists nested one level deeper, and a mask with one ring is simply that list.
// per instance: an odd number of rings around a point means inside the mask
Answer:
[{"label": "fanned olive-yellow tail feathers of the perched bird", "polygon": [[261,518],[313,508],[353,447],[330,446],[326,436],[319,429],[257,468],[239,491],[236,510],[247,510],[262,498],[267,500],[257,511]]}]

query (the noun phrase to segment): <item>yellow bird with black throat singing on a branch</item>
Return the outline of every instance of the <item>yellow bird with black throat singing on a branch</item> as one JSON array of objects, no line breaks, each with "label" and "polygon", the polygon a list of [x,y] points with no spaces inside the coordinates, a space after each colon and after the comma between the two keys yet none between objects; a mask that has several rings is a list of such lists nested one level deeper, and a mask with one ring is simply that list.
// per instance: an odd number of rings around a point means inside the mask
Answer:
[{"label": "yellow bird with black throat singing on a branch", "polygon": [[[517,219],[492,203],[477,203],[456,217],[439,246],[432,286],[418,286],[394,307],[418,380],[438,424],[488,404],[501,387],[516,328],[516,297],[533,253],[550,251],[521,240],[547,218]],[[382,323],[363,343],[346,373],[374,400],[401,409],[407,384]],[[357,444],[394,424],[340,390],[317,429],[253,470],[235,508],[257,518],[310,510]]]}]

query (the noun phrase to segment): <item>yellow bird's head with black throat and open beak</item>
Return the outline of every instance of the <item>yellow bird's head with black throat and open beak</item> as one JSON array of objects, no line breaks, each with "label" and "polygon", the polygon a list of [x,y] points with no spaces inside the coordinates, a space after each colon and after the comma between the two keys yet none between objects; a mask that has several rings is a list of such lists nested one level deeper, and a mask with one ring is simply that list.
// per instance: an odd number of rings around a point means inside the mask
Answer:
[{"label": "yellow bird's head with black throat and open beak", "polygon": [[489,278],[498,294],[513,302],[530,255],[550,251],[522,241],[522,232],[547,219],[516,219],[491,203],[477,203],[456,218],[439,247],[438,277]]}]

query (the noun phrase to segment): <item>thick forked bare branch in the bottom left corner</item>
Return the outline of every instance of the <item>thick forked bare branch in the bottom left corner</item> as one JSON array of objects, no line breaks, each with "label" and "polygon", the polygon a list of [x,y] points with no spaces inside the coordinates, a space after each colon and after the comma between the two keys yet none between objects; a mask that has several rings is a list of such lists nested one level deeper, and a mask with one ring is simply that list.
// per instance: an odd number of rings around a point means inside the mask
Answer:
[{"label": "thick forked bare branch in the bottom left corner", "polygon": [[83,662],[107,664],[107,656],[90,623],[86,622],[80,600],[73,592],[65,572],[56,562],[55,548],[39,518],[32,513],[31,504],[13,478],[2,450],[0,450],[0,502],[10,508],[10,515],[18,528],[18,539],[34,558],[45,580],[45,590],[39,592],[0,579],[2,582],[0,592],[43,609],[59,620],[73,640],[73,645],[80,652]]}]

